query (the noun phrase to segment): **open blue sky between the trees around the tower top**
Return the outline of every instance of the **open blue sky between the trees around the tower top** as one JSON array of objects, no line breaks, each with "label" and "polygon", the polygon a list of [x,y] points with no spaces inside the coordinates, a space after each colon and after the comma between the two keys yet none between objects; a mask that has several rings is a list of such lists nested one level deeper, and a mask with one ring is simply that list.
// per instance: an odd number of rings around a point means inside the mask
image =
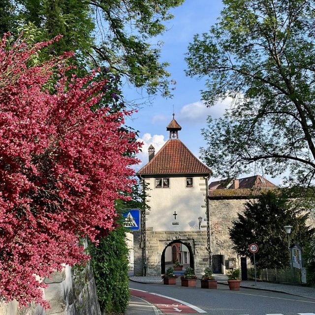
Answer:
[{"label": "open blue sky between the trees around the tower top", "polygon": [[[184,60],[193,35],[207,32],[210,26],[216,23],[222,7],[221,0],[186,0],[182,6],[172,10],[175,17],[167,22],[168,31],[152,40],[152,44],[156,44],[158,40],[164,42],[161,48],[161,61],[170,63],[168,71],[177,84],[173,91],[173,98],[165,99],[156,96],[152,105],[144,105],[137,114],[133,115],[133,120],[126,121],[126,125],[140,130],[139,137],[144,142],[143,153],[139,154],[142,160],[139,167],[148,162],[147,150],[150,144],[158,150],[168,139],[166,126],[173,118],[173,105],[175,119],[182,126],[179,138],[198,158],[199,148],[206,145],[201,136],[201,128],[206,126],[207,116],[218,118],[228,106],[228,99],[212,108],[202,104],[200,90],[204,88],[204,81],[185,75],[187,64]],[[133,100],[142,97],[141,94],[126,87],[124,95],[126,99]],[[268,176],[267,178],[270,179]],[[277,179],[271,181],[279,184]]]}]

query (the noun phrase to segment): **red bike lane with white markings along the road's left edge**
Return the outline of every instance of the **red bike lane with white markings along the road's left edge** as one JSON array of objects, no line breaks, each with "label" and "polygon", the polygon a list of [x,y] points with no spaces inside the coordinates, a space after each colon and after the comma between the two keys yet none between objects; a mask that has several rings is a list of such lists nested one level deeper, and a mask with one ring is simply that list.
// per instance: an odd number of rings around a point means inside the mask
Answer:
[{"label": "red bike lane with white markings along the road's left edge", "polygon": [[[130,294],[135,297],[140,297],[151,304],[155,305],[165,314],[198,314],[198,313],[206,313],[205,311],[199,309],[200,311],[196,311],[195,309],[189,307],[188,305],[182,304],[172,298],[162,297],[156,294],[152,294],[146,291],[130,289]],[[194,307],[194,306],[192,306]],[[198,308],[196,308],[198,309]]]}]

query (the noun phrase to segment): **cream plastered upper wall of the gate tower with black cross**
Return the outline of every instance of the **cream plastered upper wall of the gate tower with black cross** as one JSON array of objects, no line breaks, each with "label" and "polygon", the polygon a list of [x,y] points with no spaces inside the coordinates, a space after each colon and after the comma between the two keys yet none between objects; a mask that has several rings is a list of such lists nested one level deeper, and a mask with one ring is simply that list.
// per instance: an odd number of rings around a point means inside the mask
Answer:
[{"label": "cream plastered upper wall of the gate tower with black cross", "polygon": [[[145,180],[151,189],[147,198],[151,211],[147,212],[146,227],[152,227],[153,231],[198,230],[198,217],[206,218],[204,178],[193,177],[192,188],[186,188],[186,177],[164,178],[170,179],[169,188],[155,188],[155,178]],[[174,211],[177,213],[176,220],[173,216]],[[174,221],[179,224],[173,225]]]}]

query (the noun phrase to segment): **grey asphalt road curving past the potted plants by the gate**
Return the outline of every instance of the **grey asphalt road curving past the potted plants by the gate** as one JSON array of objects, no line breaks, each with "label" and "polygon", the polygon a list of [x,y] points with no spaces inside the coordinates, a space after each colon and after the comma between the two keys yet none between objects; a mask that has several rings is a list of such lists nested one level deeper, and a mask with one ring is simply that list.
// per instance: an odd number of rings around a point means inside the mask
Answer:
[{"label": "grey asphalt road curving past the potted plants by the gate", "polygon": [[249,288],[230,291],[224,284],[218,284],[217,290],[201,289],[200,282],[196,288],[182,287],[180,282],[176,285],[130,282],[129,287],[185,301],[211,315],[315,315],[315,299],[279,292]]}]

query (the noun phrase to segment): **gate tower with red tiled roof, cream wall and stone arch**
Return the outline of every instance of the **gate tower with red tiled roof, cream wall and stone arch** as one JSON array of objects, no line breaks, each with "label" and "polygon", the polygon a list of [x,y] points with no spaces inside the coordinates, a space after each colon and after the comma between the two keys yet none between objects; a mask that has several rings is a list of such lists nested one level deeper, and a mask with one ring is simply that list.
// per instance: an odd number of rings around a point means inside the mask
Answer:
[{"label": "gate tower with red tiled roof, cream wall and stone arch", "polygon": [[151,210],[142,214],[142,231],[133,233],[135,275],[163,273],[170,244],[189,249],[189,264],[197,275],[211,264],[207,187],[212,171],[178,139],[181,129],[173,114],[166,128],[169,140],[156,155],[150,145],[149,162],[137,173]]}]

